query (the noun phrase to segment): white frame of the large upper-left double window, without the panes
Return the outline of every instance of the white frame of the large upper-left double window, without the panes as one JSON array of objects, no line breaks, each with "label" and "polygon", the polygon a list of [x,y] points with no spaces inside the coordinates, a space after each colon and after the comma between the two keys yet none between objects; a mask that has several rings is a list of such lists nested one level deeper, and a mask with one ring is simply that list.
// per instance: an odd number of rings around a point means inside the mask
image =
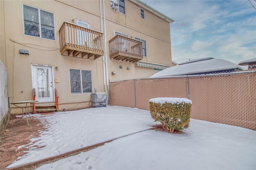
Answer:
[{"label": "white frame of the large upper-left double window, without the panes", "polygon": [[[38,31],[39,31],[39,37],[36,36],[36,35],[29,35],[29,34],[26,34],[26,33],[25,33],[24,6],[28,6],[28,7],[30,7],[30,8],[35,8],[35,9],[38,10]],[[50,13],[50,14],[53,15],[54,39],[49,39],[49,38],[44,38],[44,37],[42,37],[42,23],[41,23],[41,17],[40,17],[40,14],[41,14],[40,12],[41,12],[41,11],[48,12],[48,13]],[[28,36],[32,36],[32,37],[38,37],[38,38],[43,38],[43,39],[49,39],[49,40],[52,40],[52,41],[56,41],[55,16],[54,16],[54,13],[49,12],[49,11],[46,11],[46,10],[42,10],[42,9],[40,9],[40,8],[36,8],[36,7],[34,7],[34,6],[29,6],[29,5],[26,5],[26,4],[22,4],[22,21],[23,21],[23,34],[24,34],[24,35],[28,35]]]}]

